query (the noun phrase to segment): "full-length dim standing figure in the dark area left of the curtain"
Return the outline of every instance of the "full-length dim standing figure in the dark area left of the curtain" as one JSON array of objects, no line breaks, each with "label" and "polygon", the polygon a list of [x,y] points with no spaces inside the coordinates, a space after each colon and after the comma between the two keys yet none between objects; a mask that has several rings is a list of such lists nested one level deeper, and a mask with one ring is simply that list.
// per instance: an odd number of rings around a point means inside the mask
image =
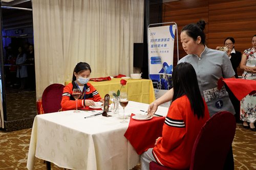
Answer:
[{"label": "full-length dim standing figure in the dark area left of the curtain", "polygon": [[[26,58],[27,58],[27,55],[24,52],[24,48],[23,46],[20,46],[18,48],[18,56],[17,56],[16,64],[25,64]],[[28,77],[27,66],[26,65],[17,66],[17,78],[20,78],[20,82],[21,82],[21,86],[19,88],[20,90],[23,90],[25,88],[26,77]]]}]

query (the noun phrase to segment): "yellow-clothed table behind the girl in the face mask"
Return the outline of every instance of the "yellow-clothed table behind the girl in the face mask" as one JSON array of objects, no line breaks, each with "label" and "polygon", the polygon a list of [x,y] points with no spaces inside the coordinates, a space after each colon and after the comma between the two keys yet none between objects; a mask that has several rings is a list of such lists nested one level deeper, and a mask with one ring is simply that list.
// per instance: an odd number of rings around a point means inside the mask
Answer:
[{"label": "yellow-clothed table behind the girl in the face mask", "polygon": [[[109,94],[112,90],[120,90],[121,79],[124,78],[112,78],[111,80],[105,79],[104,81],[98,82],[89,81],[89,83],[97,89],[99,95],[103,98],[105,94]],[[130,101],[151,104],[156,100],[152,80],[141,78],[129,78],[124,80],[127,82],[126,85],[123,86],[121,92],[126,92]],[[69,83],[71,83],[71,81],[65,81],[65,86]]]}]

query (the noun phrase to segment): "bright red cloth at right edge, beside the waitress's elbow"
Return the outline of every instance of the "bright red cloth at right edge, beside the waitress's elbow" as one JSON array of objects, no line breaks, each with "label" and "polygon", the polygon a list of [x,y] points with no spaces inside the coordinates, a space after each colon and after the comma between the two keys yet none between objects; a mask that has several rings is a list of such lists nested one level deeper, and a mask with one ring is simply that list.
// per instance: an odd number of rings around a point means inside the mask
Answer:
[{"label": "bright red cloth at right edge, beside the waitress's elbow", "polygon": [[256,92],[256,81],[255,80],[246,80],[246,79],[223,79],[220,78],[218,80],[218,88],[219,90],[222,88],[224,83],[227,84],[229,89],[233,92],[236,98],[240,101],[246,95],[251,95]]}]

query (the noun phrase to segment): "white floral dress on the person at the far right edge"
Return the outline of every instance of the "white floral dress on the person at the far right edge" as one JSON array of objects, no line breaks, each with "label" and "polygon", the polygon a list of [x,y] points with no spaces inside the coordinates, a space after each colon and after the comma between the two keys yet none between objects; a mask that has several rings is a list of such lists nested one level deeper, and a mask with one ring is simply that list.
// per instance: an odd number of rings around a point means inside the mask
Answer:
[{"label": "white floral dress on the person at the far right edge", "polygon": [[[256,49],[253,47],[249,48],[244,51],[244,54],[247,56],[245,65],[249,67],[255,67]],[[255,80],[256,83],[256,74],[244,70],[242,79]],[[256,122],[256,93],[252,95],[248,94],[244,99],[240,101],[240,103],[240,119],[249,123]]]}]

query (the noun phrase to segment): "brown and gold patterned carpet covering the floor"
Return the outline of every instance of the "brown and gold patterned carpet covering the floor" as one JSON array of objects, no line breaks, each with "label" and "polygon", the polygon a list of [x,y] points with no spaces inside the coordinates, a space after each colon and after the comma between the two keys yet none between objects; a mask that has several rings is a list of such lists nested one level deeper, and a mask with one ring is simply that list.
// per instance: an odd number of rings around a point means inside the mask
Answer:
[{"label": "brown and gold patterned carpet covering the floor", "polygon": [[[0,169],[25,170],[27,169],[27,158],[29,142],[32,129],[25,129],[5,133],[0,131]],[[242,124],[237,124],[236,135],[232,147],[234,166],[238,169],[256,169],[256,132],[244,129]],[[34,169],[46,169],[46,164],[36,159]],[[52,163],[52,169],[63,169]],[[137,165],[133,168],[140,169]]]}]

